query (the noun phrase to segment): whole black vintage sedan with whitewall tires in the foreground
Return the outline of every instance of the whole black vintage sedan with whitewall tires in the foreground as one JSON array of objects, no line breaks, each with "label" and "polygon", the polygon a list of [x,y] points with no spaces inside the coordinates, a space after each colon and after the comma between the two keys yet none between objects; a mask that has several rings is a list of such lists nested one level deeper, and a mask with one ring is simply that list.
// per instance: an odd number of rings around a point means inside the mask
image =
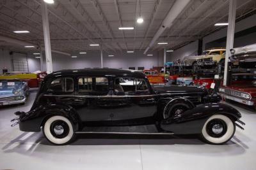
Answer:
[{"label": "whole black vintage sedan with whitewall tires in the foreground", "polygon": [[48,74],[30,111],[13,125],[39,132],[56,145],[79,133],[200,134],[227,142],[241,114],[197,87],[151,87],[140,71],[73,69]]}]

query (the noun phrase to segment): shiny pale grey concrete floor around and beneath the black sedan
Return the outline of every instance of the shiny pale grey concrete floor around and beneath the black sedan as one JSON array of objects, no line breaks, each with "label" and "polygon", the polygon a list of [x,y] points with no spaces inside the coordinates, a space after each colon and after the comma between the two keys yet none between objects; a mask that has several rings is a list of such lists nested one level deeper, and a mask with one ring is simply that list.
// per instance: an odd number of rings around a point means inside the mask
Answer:
[{"label": "shiny pale grey concrete floor around and beneath the black sedan", "polygon": [[0,108],[0,169],[256,169],[256,113],[234,106],[243,115],[245,130],[237,128],[226,145],[207,145],[193,136],[83,135],[67,146],[52,146],[42,132],[10,127],[15,111]]}]

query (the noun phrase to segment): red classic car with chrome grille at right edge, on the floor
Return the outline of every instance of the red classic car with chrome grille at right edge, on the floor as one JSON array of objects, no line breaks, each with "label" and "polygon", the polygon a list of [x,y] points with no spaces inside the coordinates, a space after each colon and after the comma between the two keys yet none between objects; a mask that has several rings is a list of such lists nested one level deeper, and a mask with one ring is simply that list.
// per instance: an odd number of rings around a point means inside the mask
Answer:
[{"label": "red classic car with chrome grille at right edge, on the floor", "polygon": [[256,108],[256,74],[237,73],[232,76],[233,80],[230,85],[220,87],[220,95],[223,99],[230,99]]}]

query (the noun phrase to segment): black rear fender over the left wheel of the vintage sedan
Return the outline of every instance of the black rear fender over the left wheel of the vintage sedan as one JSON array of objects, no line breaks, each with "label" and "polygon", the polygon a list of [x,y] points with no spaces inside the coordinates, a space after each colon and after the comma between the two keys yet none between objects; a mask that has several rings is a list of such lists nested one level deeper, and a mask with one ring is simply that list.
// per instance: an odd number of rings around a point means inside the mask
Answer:
[{"label": "black rear fender over the left wheel of the vintage sedan", "polygon": [[44,121],[54,115],[67,117],[73,125],[74,131],[78,131],[81,119],[76,110],[63,104],[45,104],[37,106],[35,110],[20,114],[20,131],[38,132]]}]

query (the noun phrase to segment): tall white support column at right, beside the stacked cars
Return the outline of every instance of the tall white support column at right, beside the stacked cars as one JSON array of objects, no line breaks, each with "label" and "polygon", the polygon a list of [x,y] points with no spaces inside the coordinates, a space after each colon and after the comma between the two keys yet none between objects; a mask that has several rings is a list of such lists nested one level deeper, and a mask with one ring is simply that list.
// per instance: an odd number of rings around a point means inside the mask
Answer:
[{"label": "tall white support column at right, beside the stacked cars", "polygon": [[226,45],[223,85],[227,85],[228,60],[229,60],[228,58],[230,57],[230,49],[233,48],[233,44],[234,44],[235,24],[236,24],[236,0],[230,0],[229,10],[228,10],[228,31],[227,31],[227,45]]}]

